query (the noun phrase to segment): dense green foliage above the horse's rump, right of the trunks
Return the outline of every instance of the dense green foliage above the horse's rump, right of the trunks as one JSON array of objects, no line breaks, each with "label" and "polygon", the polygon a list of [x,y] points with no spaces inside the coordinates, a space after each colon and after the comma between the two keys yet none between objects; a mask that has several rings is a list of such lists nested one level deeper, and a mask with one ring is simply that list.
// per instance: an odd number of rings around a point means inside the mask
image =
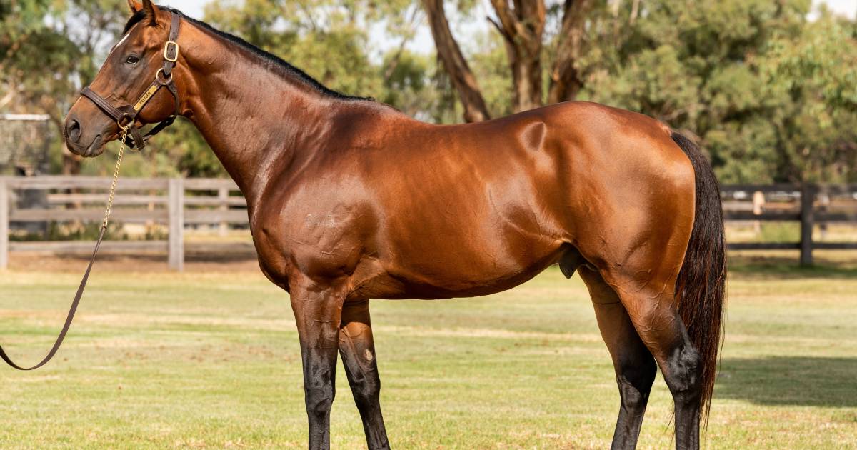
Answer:
[{"label": "dense green foliage above the horse's rump, right of the trunks", "polygon": [[724,183],[857,180],[853,23],[808,1],[653,0],[582,96],[698,135]]}]

